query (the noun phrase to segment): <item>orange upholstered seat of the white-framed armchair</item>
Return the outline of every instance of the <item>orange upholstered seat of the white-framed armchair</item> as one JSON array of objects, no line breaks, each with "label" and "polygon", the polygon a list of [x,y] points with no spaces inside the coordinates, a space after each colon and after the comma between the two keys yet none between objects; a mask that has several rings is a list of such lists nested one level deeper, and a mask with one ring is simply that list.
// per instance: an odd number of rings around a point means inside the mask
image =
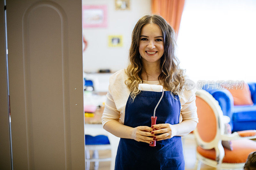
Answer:
[{"label": "orange upholstered seat of the white-framed armchair", "polygon": [[[233,151],[224,148],[225,156],[223,163],[245,163],[248,155],[256,151],[256,142],[250,139],[233,140]],[[205,158],[215,160],[215,149],[206,150],[197,146],[197,152]]]}]

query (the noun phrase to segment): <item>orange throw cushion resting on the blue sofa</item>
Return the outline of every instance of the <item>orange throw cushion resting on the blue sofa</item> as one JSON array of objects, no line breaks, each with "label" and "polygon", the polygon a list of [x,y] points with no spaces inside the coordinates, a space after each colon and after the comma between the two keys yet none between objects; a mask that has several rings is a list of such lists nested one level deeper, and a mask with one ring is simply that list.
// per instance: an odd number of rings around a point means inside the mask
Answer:
[{"label": "orange throw cushion resting on the blue sofa", "polygon": [[243,83],[241,86],[237,86],[236,84],[224,86],[232,94],[234,98],[234,105],[253,105],[252,96],[248,84]]}]

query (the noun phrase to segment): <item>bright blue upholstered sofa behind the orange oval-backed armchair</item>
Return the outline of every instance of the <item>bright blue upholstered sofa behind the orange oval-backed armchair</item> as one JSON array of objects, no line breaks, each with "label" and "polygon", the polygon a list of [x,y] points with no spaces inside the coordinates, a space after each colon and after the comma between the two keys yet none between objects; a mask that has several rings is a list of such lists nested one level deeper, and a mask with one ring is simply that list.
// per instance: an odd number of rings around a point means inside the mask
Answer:
[{"label": "bright blue upholstered sofa behind the orange oval-backed armchair", "polygon": [[256,83],[247,83],[250,88],[253,106],[234,106],[234,99],[227,89],[217,89],[216,85],[205,84],[203,89],[219,102],[223,115],[230,117],[232,133],[256,129]]}]

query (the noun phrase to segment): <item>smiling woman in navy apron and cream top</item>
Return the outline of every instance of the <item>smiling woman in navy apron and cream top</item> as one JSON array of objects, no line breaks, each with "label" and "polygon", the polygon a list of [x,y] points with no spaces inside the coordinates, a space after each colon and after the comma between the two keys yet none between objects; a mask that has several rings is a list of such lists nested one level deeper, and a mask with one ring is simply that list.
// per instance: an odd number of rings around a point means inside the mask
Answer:
[{"label": "smiling woman in navy apron and cream top", "polygon": [[[130,63],[110,76],[103,128],[120,137],[115,169],[185,169],[181,136],[196,128],[195,89],[185,89],[184,70],[175,56],[175,32],[158,15],[140,18],[132,32]],[[138,89],[163,85],[162,92]],[[151,147],[156,140],[156,146]]]}]

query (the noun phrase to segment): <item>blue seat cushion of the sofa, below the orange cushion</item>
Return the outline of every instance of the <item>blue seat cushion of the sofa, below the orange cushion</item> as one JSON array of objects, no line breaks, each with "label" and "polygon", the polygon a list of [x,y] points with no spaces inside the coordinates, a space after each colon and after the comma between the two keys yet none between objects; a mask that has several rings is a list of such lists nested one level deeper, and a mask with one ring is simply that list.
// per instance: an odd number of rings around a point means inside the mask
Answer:
[{"label": "blue seat cushion of the sofa, below the orange cushion", "polygon": [[232,121],[256,121],[256,104],[252,106],[234,106]]}]

